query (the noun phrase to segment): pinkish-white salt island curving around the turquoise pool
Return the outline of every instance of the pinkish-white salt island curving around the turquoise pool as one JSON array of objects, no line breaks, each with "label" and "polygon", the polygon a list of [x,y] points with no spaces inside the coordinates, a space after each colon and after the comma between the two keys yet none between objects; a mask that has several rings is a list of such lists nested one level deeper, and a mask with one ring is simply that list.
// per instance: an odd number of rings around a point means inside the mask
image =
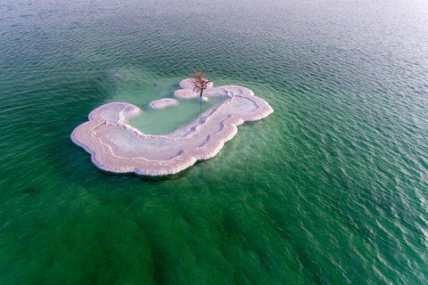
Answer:
[{"label": "pinkish-white salt island curving around the turquoise pool", "polygon": [[[180,86],[183,89],[174,93],[177,98],[199,95],[193,92],[190,79],[181,81]],[[172,175],[191,167],[197,160],[218,154],[244,121],[265,118],[274,111],[268,102],[241,86],[210,85],[204,95],[208,100],[215,96],[223,96],[225,100],[170,134],[143,134],[126,123],[141,110],[126,102],[112,102],[93,110],[89,121],[76,127],[71,139],[91,153],[92,161],[103,170]],[[152,105],[164,108],[177,103],[167,99],[157,100]]]}]

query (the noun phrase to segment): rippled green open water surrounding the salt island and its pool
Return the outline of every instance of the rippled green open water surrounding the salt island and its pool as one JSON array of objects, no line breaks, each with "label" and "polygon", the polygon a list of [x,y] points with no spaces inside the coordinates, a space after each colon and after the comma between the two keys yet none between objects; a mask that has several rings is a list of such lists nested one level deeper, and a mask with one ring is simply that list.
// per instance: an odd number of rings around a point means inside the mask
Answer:
[{"label": "rippled green open water surrounding the salt island and its pool", "polygon": [[[427,284],[422,0],[0,4],[0,284]],[[193,69],[275,112],[161,178],[70,141]]]}]

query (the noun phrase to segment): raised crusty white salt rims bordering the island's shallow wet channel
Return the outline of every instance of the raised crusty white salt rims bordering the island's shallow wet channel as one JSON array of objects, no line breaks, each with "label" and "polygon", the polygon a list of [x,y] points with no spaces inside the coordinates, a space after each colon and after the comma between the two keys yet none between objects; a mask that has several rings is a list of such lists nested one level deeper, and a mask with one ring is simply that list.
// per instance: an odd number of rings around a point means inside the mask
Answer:
[{"label": "raised crusty white salt rims bordering the island's shallow wet channel", "polygon": [[[185,90],[189,91],[192,87],[190,79],[185,79],[180,82],[180,85]],[[129,126],[124,123],[125,118],[135,116],[140,110],[126,102],[112,102],[104,104],[103,106],[93,110],[88,118],[89,121],[76,127],[70,135],[71,140],[85,149],[91,154],[91,159],[95,166],[115,173],[131,173],[134,172],[138,175],[173,175],[187,167],[193,166],[197,160],[210,159],[218,154],[223,148],[225,142],[231,140],[237,133],[237,126],[242,125],[244,121],[259,120],[261,118],[268,117],[274,110],[269,106],[268,102],[254,96],[250,89],[245,87],[230,85],[230,86],[219,86],[212,88],[211,92],[217,91],[217,94],[223,94],[226,96],[226,100],[219,105],[212,107],[210,110],[204,112],[198,119],[193,123],[185,126],[184,128],[167,135],[152,135],[142,134],[136,128]],[[235,91],[238,90],[242,94],[236,95]],[[176,92],[177,93],[177,92]],[[193,93],[193,96],[198,94]],[[172,141],[169,143],[171,147],[180,140],[191,138],[194,134],[206,133],[208,127],[208,121],[212,124],[212,120],[216,118],[216,114],[219,114],[223,107],[231,103],[234,98],[241,97],[251,100],[257,108],[251,111],[244,111],[242,113],[228,114],[227,118],[218,122],[219,130],[212,134],[206,134],[207,140],[195,148],[180,149],[178,155],[171,159],[145,159],[143,157],[132,157],[124,158],[115,154],[109,145],[104,143],[99,138],[95,137],[95,127],[101,124],[106,126],[121,126],[129,133],[136,135],[141,140],[160,140],[160,141]],[[103,118],[103,112],[105,110],[111,110],[111,108],[118,109],[118,120],[109,123]],[[224,115],[224,113],[223,113]],[[205,129],[204,129],[205,127]],[[161,151],[161,150],[153,150]]]}]

